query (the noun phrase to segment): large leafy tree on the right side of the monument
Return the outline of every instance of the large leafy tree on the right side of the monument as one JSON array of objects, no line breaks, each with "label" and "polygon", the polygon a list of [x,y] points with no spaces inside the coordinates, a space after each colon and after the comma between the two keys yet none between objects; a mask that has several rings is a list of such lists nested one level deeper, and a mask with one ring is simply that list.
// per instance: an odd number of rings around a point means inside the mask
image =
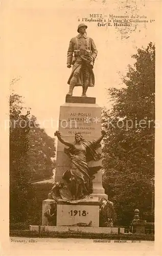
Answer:
[{"label": "large leafy tree on the right side of the monument", "polygon": [[135,208],[146,218],[151,211],[154,180],[155,46],[138,49],[125,87],[110,88],[112,109],[103,110],[104,186],[118,215],[127,225]]}]

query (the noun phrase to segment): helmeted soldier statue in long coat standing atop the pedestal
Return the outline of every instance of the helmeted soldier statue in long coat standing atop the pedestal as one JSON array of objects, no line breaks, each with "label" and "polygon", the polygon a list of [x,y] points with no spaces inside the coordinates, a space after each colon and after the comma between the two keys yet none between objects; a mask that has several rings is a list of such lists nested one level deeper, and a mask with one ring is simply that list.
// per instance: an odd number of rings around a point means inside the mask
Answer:
[{"label": "helmeted soldier statue in long coat standing atop the pedestal", "polygon": [[94,87],[95,76],[93,72],[94,62],[97,56],[97,49],[92,38],[86,35],[87,26],[81,23],[78,26],[78,35],[73,37],[67,51],[67,68],[73,70],[68,84],[70,89],[67,95],[73,95],[75,86],[82,86],[82,97],[86,97],[88,87]]}]

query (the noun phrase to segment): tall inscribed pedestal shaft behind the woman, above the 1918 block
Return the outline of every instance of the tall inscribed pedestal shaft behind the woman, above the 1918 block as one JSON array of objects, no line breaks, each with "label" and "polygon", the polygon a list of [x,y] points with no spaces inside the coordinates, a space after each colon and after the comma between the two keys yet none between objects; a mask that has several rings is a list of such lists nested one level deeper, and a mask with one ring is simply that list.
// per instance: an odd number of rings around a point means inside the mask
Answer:
[{"label": "tall inscribed pedestal shaft behind the woman, above the 1918 block", "polygon": [[[81,132],[83,138],[88,141],[98,139],[101,136],[101,108],[95,98],[66,97],[66,103],[60,106],[59,132],[64,140],[74,141],[76,132]],[[64,153],[64,147],[58,141],[55,182],[62,181],[65,170],[70,170],[71,161]],[[101,148],[98,150],[101,153]],[[89,167],[102,166],[102,160],[90,161]],[[93,180],[93,197],[105,198],[105,190],[102,186],[102,169]]]}]

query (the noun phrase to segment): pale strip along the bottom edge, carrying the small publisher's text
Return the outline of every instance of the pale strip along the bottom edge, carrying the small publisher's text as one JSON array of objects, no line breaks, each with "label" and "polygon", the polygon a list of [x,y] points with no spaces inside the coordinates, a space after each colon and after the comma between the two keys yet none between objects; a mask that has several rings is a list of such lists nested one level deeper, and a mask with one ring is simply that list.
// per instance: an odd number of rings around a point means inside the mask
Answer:
[{"label": "pale strip along the bottom edge, carrying the small publisher's text", "polygon": [[10,237],[8,242],[1,255],[159,255],[153,241]]}]

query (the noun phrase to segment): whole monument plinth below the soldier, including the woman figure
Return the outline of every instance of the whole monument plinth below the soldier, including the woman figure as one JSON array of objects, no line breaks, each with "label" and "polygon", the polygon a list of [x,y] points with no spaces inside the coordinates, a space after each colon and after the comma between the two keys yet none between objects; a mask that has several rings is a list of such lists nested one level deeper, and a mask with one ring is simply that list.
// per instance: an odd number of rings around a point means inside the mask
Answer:
[{"label": "whole monument plinth below the soldier, including the woman figure", "polygon": [[[51,202],[55,202],[56,226],[75,226],[80,223],[80,225],[99,227],[100,200],[107,200],[107,195],[102,185],[102,150],[99,143],[104,136],[101,136],[101,108],[94,102],[96,102],[96,98],[66,96],[66,102],[60,106],[56,185],[53,188],[54,194],[49,194],[49,199],[43,201],[42,225],[48,225],[48,218],[44,213],[48,210]],[[76,141],[78,138],[76,135],[81,136],[79,142]],[[99,141],[98,146],[92,149],[91,147],[97,141]],[[68,151],[73,145],[75,145],[75,150],[72,152],[74,155],[72,154],[71,159],[66,154],[66,150]],[[81,147],[79,151],[77,151],[78,147]],[[94,154],[93,157],[89,156],[90,154]],[[73,164],[73,156],[80,162],[74,161]],[[87,166],[84,166],[85,163]],[[84,195],[84,187],[80,186],[80,183],[82,178],[85,179],[84,182],[88,182],[84,176],[86,170],[88,170],[91,180],[91,191],[89,190],[89,194]],[[70,185],[66,184],[67,174],[72,174],[68,179],[69,182],[71,180]],[[73,179],[76,183],[79,179],[79,185],[74,185]],[[63,184],[62,187],[60,184]],[[72,185],[74,188],[71,190]],[[80,194],[77,194],[77,190]]]}]

